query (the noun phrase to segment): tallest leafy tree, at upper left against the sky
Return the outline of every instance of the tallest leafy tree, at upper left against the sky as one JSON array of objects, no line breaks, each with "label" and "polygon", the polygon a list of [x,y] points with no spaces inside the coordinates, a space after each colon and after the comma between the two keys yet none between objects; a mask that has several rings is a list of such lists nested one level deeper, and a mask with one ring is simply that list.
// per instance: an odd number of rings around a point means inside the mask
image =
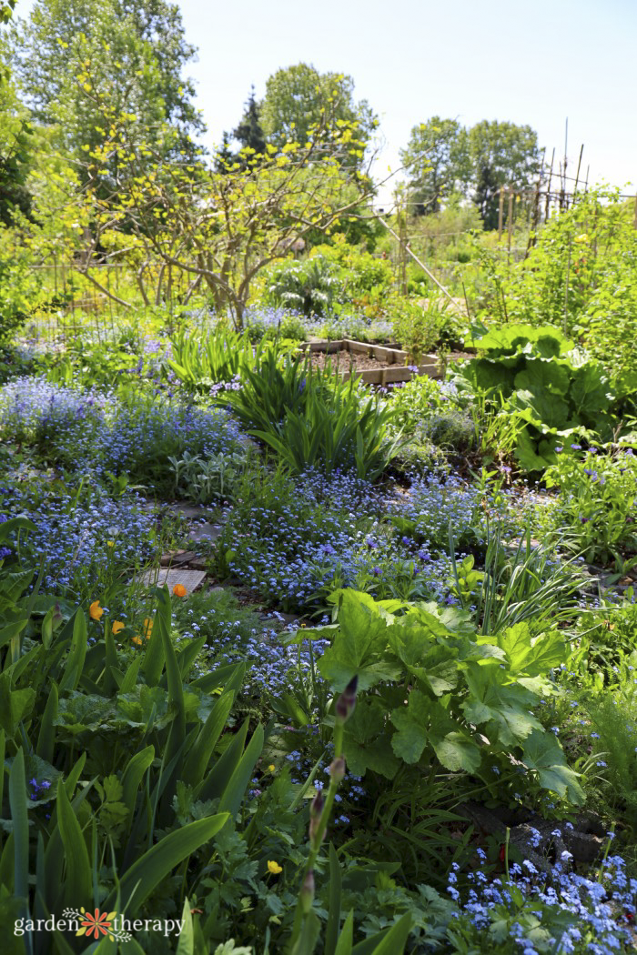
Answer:
[{"label": "tallest leafy tree, at upper left against the sky", "polygon": [[37,0],[13,29],[12,51],[33,118],[55,126],[70,154],[104,136],[98,97],[85,96],[89,74],[94,94],[99,89],[117,113],[177,130],[173,148],[186,148],[188,135],[203,128],[194,87],[182,76],[195,49],[184,40],[179,8],[166,0]]}]

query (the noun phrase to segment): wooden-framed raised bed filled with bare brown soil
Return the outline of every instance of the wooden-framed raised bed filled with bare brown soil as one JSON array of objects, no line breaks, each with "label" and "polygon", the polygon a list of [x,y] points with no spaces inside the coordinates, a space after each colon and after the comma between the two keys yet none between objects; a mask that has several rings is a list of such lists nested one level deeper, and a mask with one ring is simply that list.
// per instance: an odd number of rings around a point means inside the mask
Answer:
[{"label": "wooden-framed raised bed filled with bare brown soil", "polygon": [[[367,342],[352,342],[349,338],[328,342],[304,342],[303,354],[308,354],[312,364],[322,367],[325,360],[314,361],[318,355],[331,356],[331,368],[334,374],[340,374],[347,381],[351,372],[360,375],[368,385],[391,385],[401,381],[411,381],[415,375],[427,374],[430,378],[442,378],[443,370],[434,354],[424,355],[418,366],[407,366],[406,351],[390,349],[384,345],[370,345]],[[414,371],[414,368],[417,370]]]}]

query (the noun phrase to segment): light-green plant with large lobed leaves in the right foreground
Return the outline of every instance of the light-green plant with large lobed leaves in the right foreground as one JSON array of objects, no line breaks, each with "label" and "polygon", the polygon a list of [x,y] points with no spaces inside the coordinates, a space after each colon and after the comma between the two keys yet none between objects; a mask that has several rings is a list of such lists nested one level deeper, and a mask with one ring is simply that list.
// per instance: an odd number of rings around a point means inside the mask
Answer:
[{"label": "light-green plant with large lobed leaves in the right foreground", "polygon": [[420,772],[440,765],[477,775],[495,793],[493,767],[509,773],[515,754],[529,793],[539,786],[582,801],[558,740],[532,714],[553,692],[549,671],[567,656],[562,635],[533,638],[520,623],[472,638],[461,611],[416,604],[397,616],[399,601],[375,603],[351,590],[337,591],[334,601],[336,628],[315,632],[330,637],[319,670],[333,689],[358,679],[359,701],[345,730],[352,773],[391,779],[402,763]]}]

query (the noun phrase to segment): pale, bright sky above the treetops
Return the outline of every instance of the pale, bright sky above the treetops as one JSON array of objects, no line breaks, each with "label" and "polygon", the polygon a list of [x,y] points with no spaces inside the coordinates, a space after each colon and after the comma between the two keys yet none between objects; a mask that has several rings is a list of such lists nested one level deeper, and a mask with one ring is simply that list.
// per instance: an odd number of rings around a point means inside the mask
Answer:
[{"label": "pale, bright sky above the treetops", "polygon": [[[237,125],[254,83],[295,63],[350,74],[384,139],[377,173],[399,165],[418,122],[435,115],[528,123],[571,169],[637,182],[635,0],[180,0],[199,48],[189,73],[206,144]],[[18,0],[25,15],[32,0]],[[628,187],[626,191],[636,191]]]}]

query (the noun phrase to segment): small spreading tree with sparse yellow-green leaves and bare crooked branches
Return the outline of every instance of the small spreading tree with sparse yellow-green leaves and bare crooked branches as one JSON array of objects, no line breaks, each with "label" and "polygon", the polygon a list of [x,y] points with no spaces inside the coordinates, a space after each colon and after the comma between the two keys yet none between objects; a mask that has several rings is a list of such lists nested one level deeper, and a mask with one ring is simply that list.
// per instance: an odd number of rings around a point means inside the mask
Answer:
[{"label": "small spreading tree with sparse yellow-green leaves and bare crooked branches", "polygon": [[[350,124],[309,130],[305,145],[266,144],[264,156],[221,171],[214,161],[189,163],[166,153],[164,138],[176,135],[167,124],[145,129],[143,116],[117,114],[92,73],[99,68],[97,61],[86,67],[81,88],[103,117],[103,140],[48,181],[64,194],[55,205],[64,206],[60,231],[74,245],[75,267],[111,298],[117,296],[100,282],[99,268],[113,250],[135,261],[148,304],[159,304],[176,277],[187,276],[186,299],[208,286],[217,311],[230,312],[240,328],[259,271],[296,240],[329,235],[372,193],[371,181],[343,164],[354,141]],[[109,162],[116,155],[114,178]]]}]

